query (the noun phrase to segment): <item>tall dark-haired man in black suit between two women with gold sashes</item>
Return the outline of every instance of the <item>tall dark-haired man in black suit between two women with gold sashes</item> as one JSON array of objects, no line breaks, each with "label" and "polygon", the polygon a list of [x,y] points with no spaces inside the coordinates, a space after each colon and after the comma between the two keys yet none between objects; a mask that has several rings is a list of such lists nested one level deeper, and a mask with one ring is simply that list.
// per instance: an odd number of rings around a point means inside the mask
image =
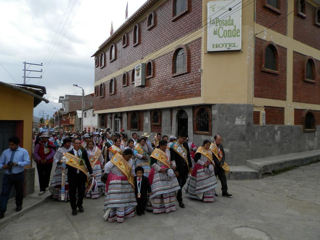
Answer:
[{"label": "tall dark-haired man in black suit between two women with gold sashes", "polygon": [[[180,185],[180,190],[177,193],[177,200],[179,202],[179,206],[182,208],[184,208],[185,205],[182,202],[182,190],[181,189],[183,188],[183,186],[187,182],[188,172],[189,171],[191,172],[191,170],[192,170],[190,151],[189,151],[188,143],[186,142],[187,138],[188,138],[187,132],[182,131],[179,133],[179,137],[178,137],[177,141],[180,145],[182,145],[184,148],[186,148],[188,163],[180,154],[178,154],[175,150],[173,150],[173,148],[170,148],[171,161],[174,160],[176,162],[176,166],[177,166],[176,171],[174,172],[175,175],[177,176],[177,180]],[[189,169],[188,169],[188,167],[189,167]]]}]

